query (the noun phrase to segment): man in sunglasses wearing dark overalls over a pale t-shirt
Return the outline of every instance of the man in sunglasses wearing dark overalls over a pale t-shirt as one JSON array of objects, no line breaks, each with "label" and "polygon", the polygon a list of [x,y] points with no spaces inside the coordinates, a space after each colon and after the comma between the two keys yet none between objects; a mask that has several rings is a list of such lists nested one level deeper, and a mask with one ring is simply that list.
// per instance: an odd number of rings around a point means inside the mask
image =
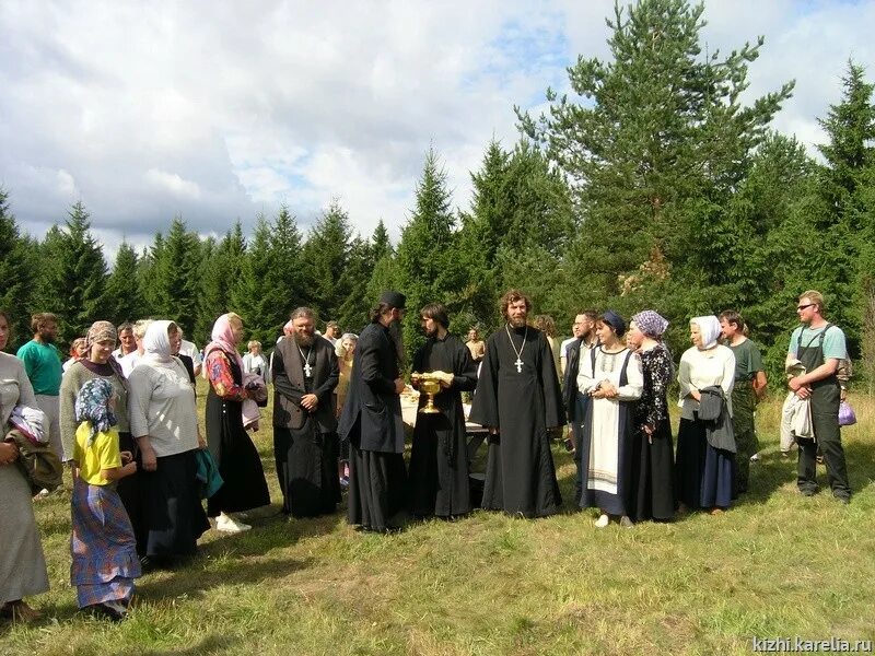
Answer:
[{"label": "man in sunglasses wearing dark overalls over a pale t-shirt", "polygon": [[790,389],[800,398],[810,398],[815,441],[801,440],[797,466],[797,484],[804,496],[817,492],[817,447],[824,454],[832,495],[841,503],[850,503],[851,485],[848,466],[841,446],[839,430],[839,397],[841,394],[836,371],[847,356],[844,333],[822,316],[824,296],[814,290],[800,296],[796,308],[802,326],[790,338],[788,363],[798,359],[806,374],[790,379]]}]

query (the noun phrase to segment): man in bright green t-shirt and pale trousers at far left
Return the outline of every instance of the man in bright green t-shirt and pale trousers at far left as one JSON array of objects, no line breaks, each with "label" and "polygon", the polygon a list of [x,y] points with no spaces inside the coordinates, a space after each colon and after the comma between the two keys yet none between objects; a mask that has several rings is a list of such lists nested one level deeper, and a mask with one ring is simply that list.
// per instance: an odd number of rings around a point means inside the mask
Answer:
[{"label": "man in bright green t-shirt and pale trousers at far left", "polygon": [[51,449],[66,461],[60,427],[60,403],[58,393],[61,388],[61,354],[55,341],[58,339],[58,319],[48,312],[31,317],[31,330],[34,338],[15,353],[24,363],[24,371],[34,387],[34,395],[39,409],[46,414],[43,430],[51,444]]}]

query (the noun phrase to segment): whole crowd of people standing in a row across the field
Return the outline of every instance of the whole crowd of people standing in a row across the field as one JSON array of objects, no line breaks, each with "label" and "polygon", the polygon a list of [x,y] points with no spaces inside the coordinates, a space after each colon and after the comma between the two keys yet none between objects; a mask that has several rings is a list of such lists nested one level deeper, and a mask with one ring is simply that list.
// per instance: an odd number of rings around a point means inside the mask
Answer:
[{"label": "whole crowd of people standing in a row across the field", "polygon": [[[609,309],[584,311],[560,342],[552,320],[530,318],[530,300],[511,290],[499,303],[501,328],[485,341],[471,329],[463,342],[448,331],[447,309],[430,303],[419,311],[428,339],[413,355],[411,384],[440,387],[419,395],[408,466],[406,302],[385,292],[358,335],[341,335],[335,323],[319,335],[315,313],[299,307],[269,359],[257,341],[241,355],[245,331],[234,313],[217,319],[202,356],[172,320],[96,321],[63,366],[54,315],[34,315],[33,339],[13,356],[1,352],[10,320],[0,311],[0,612],[36,619],[24,599],[48,589],[32,501],[48,491],[15,466],[24,459],[21,433],[50,445],[71,473],[70,581],[80,608],[118,620],[143,567],[194,554],[209,518],[220,531],[248,530],[247,513],[270,503],[252,438],[262,427],[268,383],[282,512],[293,517],[335,513],[343,488],[349,523],[366,531],[399,530],[411,517],[458,518],[475,505],[553,515],[562,499],[550,443],[565,430],[573,503],[594,508],[599,528],[721,514],[748,490],[758,450],[754,410],[767,380],[737,312],[691,318],[692,345],[676,367],[663,341],[668,321],[653,309],[628,323]],[[818,292],[801,295],[802,325],[786,355],[794,403],[810,417],[810,434],[794,435],[797,485],[805,496],[816,493],[819,449],[833,496],[848,503],[837,376],[847,350],[825,308]],[[206,435],[195,393],[201,367]],[[675,378],[677,448],[668,399]],[[479,501],[471,426],[488,434]]]}]

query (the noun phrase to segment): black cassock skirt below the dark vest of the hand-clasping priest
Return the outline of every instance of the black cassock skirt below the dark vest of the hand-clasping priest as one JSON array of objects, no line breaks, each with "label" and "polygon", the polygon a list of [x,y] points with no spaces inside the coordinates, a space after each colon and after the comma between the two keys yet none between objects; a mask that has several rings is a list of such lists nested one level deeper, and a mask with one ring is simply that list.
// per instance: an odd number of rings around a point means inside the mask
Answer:
[{"label": "black cassock skirt below the dark vest of the hand-clasping priest", "polygon": [[298,431],[273,426],[273,456],[282,490],[282,512],[295,517],[318,517],[337,511],[337,433],[314,430],[312,420]]}]

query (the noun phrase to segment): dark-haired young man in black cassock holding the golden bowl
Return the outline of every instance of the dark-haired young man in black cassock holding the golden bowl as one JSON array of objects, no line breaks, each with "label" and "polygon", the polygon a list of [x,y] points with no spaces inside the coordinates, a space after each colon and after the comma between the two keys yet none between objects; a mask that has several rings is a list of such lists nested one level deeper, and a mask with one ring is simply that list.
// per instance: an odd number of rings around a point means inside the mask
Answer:
[{"label": "dark-haired young man in black cassock holding the golden bowl", "polygon": [[[410,456],[410,511],[418,517],[456,517],[471,511],[462,393],[477,387],[477,365],[462,340],[447,332],[450,317],[443,305],[423,307],[420,325],[429,341],[413,355],[413,372],[442,378],[441,391],[434,397],[441,412],[417,413]],[[428,395],[420,394],[419,407],[427,400]]]}]

